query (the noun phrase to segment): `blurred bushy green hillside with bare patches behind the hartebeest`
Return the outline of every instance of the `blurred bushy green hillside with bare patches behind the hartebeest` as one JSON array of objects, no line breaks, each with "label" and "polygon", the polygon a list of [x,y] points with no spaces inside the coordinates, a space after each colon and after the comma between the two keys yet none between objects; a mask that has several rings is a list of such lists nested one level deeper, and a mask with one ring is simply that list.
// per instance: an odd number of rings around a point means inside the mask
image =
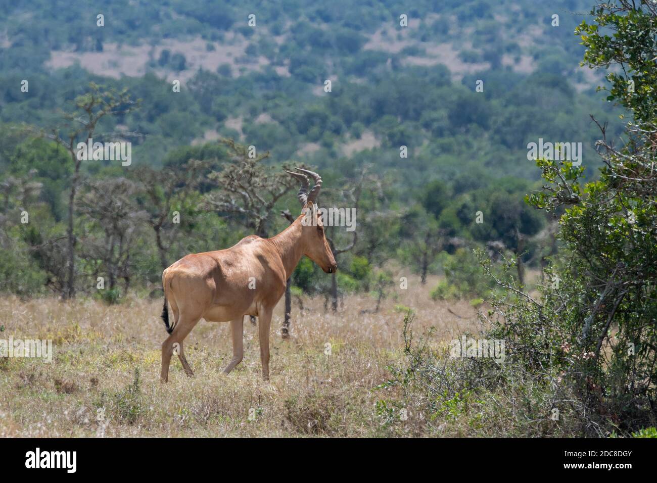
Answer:
[{"label": "blurred bushy green hillside with bare patches behind the hartebeest", "polygon": [[[97,294],[103,276],[111,279],[108,300],[129,289],[155,295],[162,260],[248,235],[243,219],[205,201],[222,189],[207,175],[234,154],[217,143],[223,138],[269,151],[263,165],[316,167],[325,178],[323,204],[344,206],[345,193],[359,189],[359,236],[352,240],[344,227],[330,233],[336,250],[348,248],[333,295],[373,290],[373,268],[392,260],[423,281],[445,273],[451,280],[436,287],[436,297],[483,296],[486,284],[464,275],[476,267],[474,246],[512,252],[530,267],[556,250],[554,218],[522,202],[539,187],[527,143],[581,142],[585,174],[595,177],[597,126],[589,114],[608,120],[610,135],[622,129],[622,111],[600,103],[599,78],[578,67],[575,12],[587,11],[586,1],[549,8],[524,0],[420,1],[410,9],[398,1],[2,3],[0,242],[8,256],[0,290],[23,296],[68,293],[62,263],[73,184],[78,292]],[[474,90],[477,80],[483,93]],[[99,93],[127,89],[140,101],[102,117],[94,131],[95,141],[133,143],[133,163],[83,162],[76,175],[51,138],[73,129],[64,120],[76,115],[76,99],[91,82]],[[205,164],[189,184],[180,173],[191,160]],[[168,174],[158,186],[159,170]],[[167,176],[175,180],[168,187]],[[124,226],[82,206],[108,189],[132,215]],[[296,213],[292,191],[271,210],[269,235],[286,225],[278,216],[284,209]],[[330,290],[317,275],[304,261],[293,283],[309,293]]]}]

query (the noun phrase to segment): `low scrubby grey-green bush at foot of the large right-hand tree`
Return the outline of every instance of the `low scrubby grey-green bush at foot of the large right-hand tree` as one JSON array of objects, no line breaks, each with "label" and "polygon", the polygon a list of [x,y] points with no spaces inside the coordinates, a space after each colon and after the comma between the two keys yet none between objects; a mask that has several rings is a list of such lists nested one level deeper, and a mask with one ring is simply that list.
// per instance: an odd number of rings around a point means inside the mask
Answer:
[{"label": "low scrubby grey-green bush at foot of the large right-hand tree", "polygon": [[[419,338],[413,314],[403,321],[404,359],[388,367],[390,379],[375,390],[400,398],[379,400],[375,411],[386,431],[413,436],[564,437],[583,433],[587,417],[570,384],[548,374],[486,357],[451,357],[434,346],[434,328]],[[560,401],[571,403],[558,404]],[[558,405],[559,418],[553,419]],[[400,421],[401,409],[410,415]]]}]

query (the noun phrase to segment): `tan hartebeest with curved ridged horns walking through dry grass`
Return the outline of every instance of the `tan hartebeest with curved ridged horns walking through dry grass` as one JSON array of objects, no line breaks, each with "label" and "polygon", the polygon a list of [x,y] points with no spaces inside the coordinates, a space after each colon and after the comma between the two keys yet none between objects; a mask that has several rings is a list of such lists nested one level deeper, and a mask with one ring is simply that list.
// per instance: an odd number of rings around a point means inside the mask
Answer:
[{"label": "tan hartebeest with curved ridged horns walking through dry grass", "polygon": [[[302,214],[273,238],[249,235],[226,250],[187,255],[162,273],[164,309],[162,319],[170,334],[162,343],[162,381],[169,378],[169,364],[174,344],[185,373],[193,375],[185,353],[183,340],[199,319],[211,322],[231,322],[233,359],[224,372],[231,372],[242,361],[243,320],[245,315],[258,316],[262,375],[269,380],[269,325],[271,313],[285,291],[286,280],[292,275],[302,256],[306,255],[326,273],[336,271],[333,253],[324,234],[315,200],[322,186],[317,173],[295,168],[288,171],[301,181],[297,197]],[[309,190],[308,176],[315,180]],[[309,223],[315,219],[315,223]],[[169,310],[173,324],[169,325]]]}]

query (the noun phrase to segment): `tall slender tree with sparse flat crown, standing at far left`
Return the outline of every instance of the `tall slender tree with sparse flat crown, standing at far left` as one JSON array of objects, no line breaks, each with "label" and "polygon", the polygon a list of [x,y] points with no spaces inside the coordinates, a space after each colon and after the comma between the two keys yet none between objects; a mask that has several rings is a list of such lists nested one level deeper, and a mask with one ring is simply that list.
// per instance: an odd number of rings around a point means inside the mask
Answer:
[{"label": "tall slender tree with sparse flat crown, standing at far left", "polygon": [[75,218],[76,218],[76,195],[81,181],[81,159],[78,156],[78,143],[87,143],[96,135],[96,129],[105,116],[125,115],[133,110],[138,101],[132,101],[127,89],[116,91],[114,89],[104,90],[104,87],[89,84],[89,92],[76,97],[74,110],[62,114],[64,122],[62,125],[51,129],[50,132],[42,131],[41,135],[52,139],[58,146],[66,150],[73,166],[70,179],[70,191],[68,194],[68,225],[66,228],[66,287],[62,291],[62,298],[75,296]]}]

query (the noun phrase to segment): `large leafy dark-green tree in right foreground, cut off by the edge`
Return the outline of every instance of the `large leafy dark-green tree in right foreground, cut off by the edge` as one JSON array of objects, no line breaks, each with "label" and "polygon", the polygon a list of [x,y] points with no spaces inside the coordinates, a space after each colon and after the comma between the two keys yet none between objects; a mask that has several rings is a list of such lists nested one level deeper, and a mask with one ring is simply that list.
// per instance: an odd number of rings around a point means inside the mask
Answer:
[{"label": "large leafy dark-green tree in right foreground, cut off by the edge", "polygon": [[512,296],[493,302],[489,322],[512,365],[573,387],[583,432],[606,436],[652,426],[657,415],[657,5],[616,0],[591,14],[576,30],[585,64],[617,67],[604,88],[633,120],[620,148],[599,124],[595,181],[583,183],[570,162],[537,160],[545,186],[526,200],[564,210],[547,269],[560,283],[539,287],[539,299],[499,280]]}]

